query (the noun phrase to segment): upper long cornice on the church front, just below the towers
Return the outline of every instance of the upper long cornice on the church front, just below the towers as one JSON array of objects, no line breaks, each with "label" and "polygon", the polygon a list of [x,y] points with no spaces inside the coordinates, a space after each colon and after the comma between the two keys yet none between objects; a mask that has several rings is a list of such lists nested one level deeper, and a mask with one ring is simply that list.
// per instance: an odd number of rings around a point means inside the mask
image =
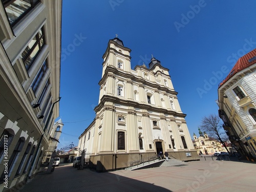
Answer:
[{"label": "upper long cornice on the church front, just below the towers", "polygon": [[99,86],[101,86],[106,81],[106,79],[108,77],[108,74],[114,74],[115,76],[119,75],[119,76],[124,77],[126,79],[131,79],[133,82],[141,83],[141,84],[143,84],[143,86],[148,86],[148,87],[151,87],[153,89],[156,89],[156,90],[159,90],[159,91],[171,94],[171,95],[177,95],[178,94],[178,92],[169,90],[168,88],[160,86],[157,83],[153,83],[153,82],[147,81],[145,79],[142,79],[140,77],[136,77],[135,75],[133,75],[131,73],[125,73],[125,72],[120,71],[117,68],[114,68],[114,67],[111,67],[111,66],[106,67],[106,69],[104,71],[104,75],[98,83]]}]

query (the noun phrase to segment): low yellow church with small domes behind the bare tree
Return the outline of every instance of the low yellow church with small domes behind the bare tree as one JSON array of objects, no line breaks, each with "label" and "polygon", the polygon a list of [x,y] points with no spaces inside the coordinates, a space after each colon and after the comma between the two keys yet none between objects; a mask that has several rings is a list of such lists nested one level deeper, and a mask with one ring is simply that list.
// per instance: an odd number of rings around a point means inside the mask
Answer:
[{"label": "low yellow church with small domes behind the bare tree", "polygon": [[[199,130],[199,137],[194,133],[193,144],[198,154],[212,155],[218,152],[227,152],[225,147],[218,140],[215,140]],[[229,147],[230,152],[232,149]]]}]

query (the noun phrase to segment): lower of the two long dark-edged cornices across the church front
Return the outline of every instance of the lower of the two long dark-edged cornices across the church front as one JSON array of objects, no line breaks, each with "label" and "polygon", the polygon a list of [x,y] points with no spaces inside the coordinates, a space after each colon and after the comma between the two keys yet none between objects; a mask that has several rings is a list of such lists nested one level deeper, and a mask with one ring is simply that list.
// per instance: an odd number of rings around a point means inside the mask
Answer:
[{"label": "lower of the two long dark-edged cornices across the church front", "polygon": [[[106,102],[112,102],[112,103],[117,103],[117,104],[122,104],[122,105],[127,105],[127,106],[133,106],[134,108],[140,108],[140,109],[144,109],[144,110],[148,110],[148,111],[172,115],[172,116],[181,117],[181,118],[186,117],[186,114],[183,114],[183,113],[177,113],[175,111],[171,111],[171,110],[167,110],[167,109],[163,109],[163,108],[157,108],[155,106],[152,106],[152,105],[149,105],[146,103],[138,103],[136,101],[125,100],[125,99],[121,99],[121,98],[110,96],[110,95],[103,95],[102,98],[100,99],[100,103],[94,108],[94,111],[96,113],[98,113],[101,111],[101,109],[106,110],[106,106],[104,106],[104,103],[106,103]],[[110,105],[108,105],[108,107],[110,108]],[[108,108],[108,110],[112,110],[109,108]],[[112,108],[114,108],[114,107],[112,106]],[[171,118],[170,121],[175,121],[175,119]]]}]

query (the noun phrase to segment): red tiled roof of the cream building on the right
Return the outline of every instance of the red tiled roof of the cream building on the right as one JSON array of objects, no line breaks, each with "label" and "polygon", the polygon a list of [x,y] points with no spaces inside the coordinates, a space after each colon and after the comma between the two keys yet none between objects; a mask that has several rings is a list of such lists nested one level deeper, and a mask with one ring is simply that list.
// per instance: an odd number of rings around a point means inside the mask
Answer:
[{"label": "red tiled roof of the cream building on the right", "polygon": [[238,59],[236,65],[234,65],[228,76],[219,84],[219,88],[234,74],[244,70],[245,68],[253,65],[254,63],[256,63],[256,49],[253,49],[251,52]]}]

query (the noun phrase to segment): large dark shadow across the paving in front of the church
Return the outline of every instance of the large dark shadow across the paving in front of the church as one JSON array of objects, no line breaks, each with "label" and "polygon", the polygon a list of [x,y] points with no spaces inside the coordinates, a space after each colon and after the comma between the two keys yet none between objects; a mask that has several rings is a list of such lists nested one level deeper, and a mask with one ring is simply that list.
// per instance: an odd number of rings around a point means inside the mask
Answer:
[{"label": "large dark shadow across the paving in front of the church", "polygon": [[[121,171],[121,172],[120,172]],[[97,173],[89,168],[77,170],[70,165],[56,167],[51,174],[36,175],[30,182],[17,191],[163,191],[172,192],[166,188],[143,181],[124,177],[127,170]]]}]

